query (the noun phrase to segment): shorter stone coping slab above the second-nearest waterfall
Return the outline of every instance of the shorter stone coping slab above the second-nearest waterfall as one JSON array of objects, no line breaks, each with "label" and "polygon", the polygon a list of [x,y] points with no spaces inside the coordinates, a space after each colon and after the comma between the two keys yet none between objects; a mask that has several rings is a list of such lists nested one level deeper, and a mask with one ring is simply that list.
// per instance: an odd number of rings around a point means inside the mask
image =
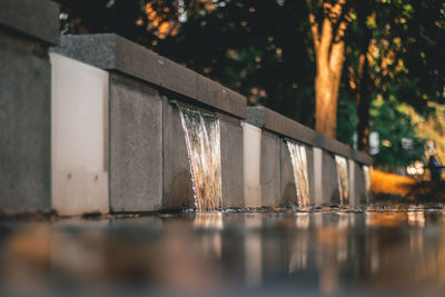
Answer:
[{"label": "shorter stone coping slab above the second-nearest waterfall", "polygon": [[248,107],[246,121],[307,145],[314,146],[316,141],[313,129],[263,106]]}]

